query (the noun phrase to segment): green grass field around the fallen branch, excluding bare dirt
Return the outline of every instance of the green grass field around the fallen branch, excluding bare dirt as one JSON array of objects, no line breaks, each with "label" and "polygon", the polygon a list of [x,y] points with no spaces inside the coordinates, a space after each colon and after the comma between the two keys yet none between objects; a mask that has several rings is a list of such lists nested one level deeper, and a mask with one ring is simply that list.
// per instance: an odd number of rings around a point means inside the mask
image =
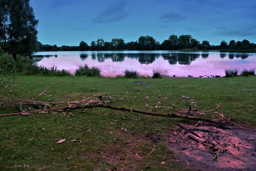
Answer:
[{"label": "green grass field around the fallen branch, excluding bare dirt", "polygon": [[[256,123],[256,76],[125,79],[19,75],[17,79],[23,94],[29,97],[37,96],[60,80],[79,84],[56,84],[49,91],[57,95],[45,93],[37,98],[42,101],[62,101],[63,98],[76,101],[107,93],[119,103],[112,105],[155,112],[186,109],[185,100],[200,110],[214,109],[221,103],[216,111],[231,116],[235,124],[255,126]],[[143,99],[146,96],[148,100]],[[0,114],[12,112],[17,110],[1,110]],[[11,170],[6,167],[17,164],[37,167],[27,168],[29,170],[187,170],[166,145],[173,126],[179,123],[196,122],[103,108],[0,117],[0,170]],[[66,141],[62,144],[52,140],[63,138]],[[69,141],[74,138],[81,142]]]}]

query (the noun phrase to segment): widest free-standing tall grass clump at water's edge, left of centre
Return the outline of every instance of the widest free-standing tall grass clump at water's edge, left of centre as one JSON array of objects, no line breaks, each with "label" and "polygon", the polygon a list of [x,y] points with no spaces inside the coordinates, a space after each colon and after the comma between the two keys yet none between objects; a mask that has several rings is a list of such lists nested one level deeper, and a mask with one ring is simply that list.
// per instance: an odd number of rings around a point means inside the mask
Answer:
[{"label": "widest free-standing tall grass clump at water's edge, left of centre", "polygon": [[100,69],[95,66],[89,67],[87,64],[84,66],[78,66],[78,68],[75,71],[75,76],[81,76],[81,75],[86,75],[86,76],[100,76]]}]

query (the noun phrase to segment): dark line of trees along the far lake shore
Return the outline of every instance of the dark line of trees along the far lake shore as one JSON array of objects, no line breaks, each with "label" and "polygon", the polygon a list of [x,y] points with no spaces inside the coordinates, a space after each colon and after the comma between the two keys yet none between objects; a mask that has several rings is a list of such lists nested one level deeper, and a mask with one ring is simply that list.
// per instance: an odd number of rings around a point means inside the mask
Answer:
[{"label": "dark line of trees along the far lake shore", "polygon": [[202,43],[194,39],[191,35],[185,34],[170,35],[169,39],[164,40],[162,43],[156,41],[152,36],[141,36],[136,41],[125,43],[124,39],[112,39],[111,42],[98,39],[91,41],[88,45],[86,42],[81,41],[79,46],[60,46],[57,45],[43,45],[38,42],[40,51],[139,51],[139,50],[180,50],[180,49],[193,49],[193,50],[209,50],[209,49],[256,49],[256,44],[250,43],[244,39],[241,41],[231,40],[229,43],[222,41],[220,45],[210,45],[209,41],[204,40]]}]

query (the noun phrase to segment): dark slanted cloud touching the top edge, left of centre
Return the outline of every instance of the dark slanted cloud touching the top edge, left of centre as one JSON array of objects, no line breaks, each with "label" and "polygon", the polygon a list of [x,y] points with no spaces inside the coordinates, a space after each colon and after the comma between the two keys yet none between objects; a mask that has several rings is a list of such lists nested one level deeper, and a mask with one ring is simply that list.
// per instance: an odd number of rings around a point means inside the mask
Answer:
[{"label": "dark slanted cloud touching the top edge, left of centre", "polygon": [[125,5],[126,1],[121,0],[114,4],[110,4],[93,19],[93,23],[111,23],[122,20],[128,15],[124,9]]}]

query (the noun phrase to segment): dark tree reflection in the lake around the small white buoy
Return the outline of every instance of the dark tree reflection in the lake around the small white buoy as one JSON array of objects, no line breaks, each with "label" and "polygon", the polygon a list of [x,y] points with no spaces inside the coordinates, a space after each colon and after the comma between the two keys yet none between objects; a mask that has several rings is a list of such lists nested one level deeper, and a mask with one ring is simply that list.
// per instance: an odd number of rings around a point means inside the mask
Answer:
[{"label": "dark tree reflection in the lake around the small white buoy", "polygon": [[168,60],[170,65],[176,65],[179,63],[180,65],[190,65],[190,63],[197,58],[200,57],[200,54],[172,54],[169,55],[162,55],[163,59]]}]

